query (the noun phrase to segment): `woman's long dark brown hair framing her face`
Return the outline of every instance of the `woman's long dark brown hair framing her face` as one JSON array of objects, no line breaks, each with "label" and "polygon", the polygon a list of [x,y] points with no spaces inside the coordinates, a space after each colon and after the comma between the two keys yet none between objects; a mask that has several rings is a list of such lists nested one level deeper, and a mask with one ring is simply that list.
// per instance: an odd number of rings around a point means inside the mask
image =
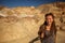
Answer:
[{"label": "woman's long dark brown hair framing her face", "polygon": [[[54,15],[53,15],[52,13],[46,14],[46,18],[47,18],[47,16],[49,16],[49,15],[51,15],[52,18],[53,18],[50,32],[51,32],[51,33],[54,32],[54,34],[56,34],[56,26],[55,26],[55,22],[54,22]],[[48,26],[47,20],[43,23],[43,25]]]}]

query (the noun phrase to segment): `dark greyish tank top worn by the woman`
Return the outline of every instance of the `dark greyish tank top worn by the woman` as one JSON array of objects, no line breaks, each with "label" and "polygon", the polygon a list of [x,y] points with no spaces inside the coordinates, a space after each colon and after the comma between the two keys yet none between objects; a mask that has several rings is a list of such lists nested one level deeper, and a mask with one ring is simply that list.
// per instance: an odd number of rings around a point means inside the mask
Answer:
[{"label": "dark greyish tank top worn by the woman", "polygon": [[49,30],[44,31],[44,38],[41,40],[41,43],[55,43],[54,32],[52,34]]}]

